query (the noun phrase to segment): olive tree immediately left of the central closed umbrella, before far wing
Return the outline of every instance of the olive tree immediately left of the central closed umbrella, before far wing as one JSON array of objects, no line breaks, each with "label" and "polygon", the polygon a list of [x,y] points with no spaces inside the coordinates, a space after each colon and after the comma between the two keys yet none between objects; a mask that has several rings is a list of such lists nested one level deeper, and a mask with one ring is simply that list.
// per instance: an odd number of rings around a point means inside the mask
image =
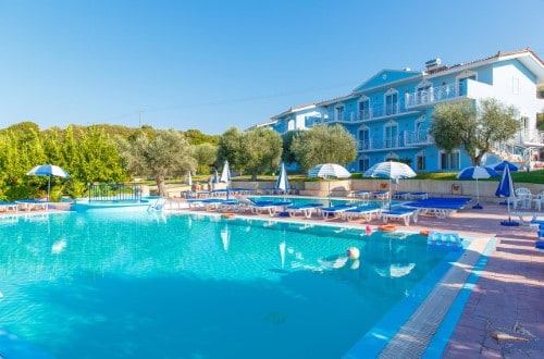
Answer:
[{"label": "olive tree immediately left of the central closed umbrella, before far wing", "polygon": [[242,139],[244,169],[251,181],[262,172],[277,168],[282,158],[282,137],[272,128],[257,127],[246,132]]}]

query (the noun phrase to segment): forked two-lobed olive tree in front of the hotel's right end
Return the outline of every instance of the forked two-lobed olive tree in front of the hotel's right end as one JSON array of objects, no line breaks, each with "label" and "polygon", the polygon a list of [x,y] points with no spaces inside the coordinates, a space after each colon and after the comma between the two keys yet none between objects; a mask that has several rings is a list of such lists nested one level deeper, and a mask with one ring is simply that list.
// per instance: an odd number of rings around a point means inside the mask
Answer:
[{"label": "forked two-lobed olive tree in front of the hotel's right end", "polygon": [[463,147],[473,165],[494,144],[510,139],[520,128],[518,111],[496,99],[483,99],[475,109],[471,101],[442,103],[432,115],[431,135],[446,152]]}]

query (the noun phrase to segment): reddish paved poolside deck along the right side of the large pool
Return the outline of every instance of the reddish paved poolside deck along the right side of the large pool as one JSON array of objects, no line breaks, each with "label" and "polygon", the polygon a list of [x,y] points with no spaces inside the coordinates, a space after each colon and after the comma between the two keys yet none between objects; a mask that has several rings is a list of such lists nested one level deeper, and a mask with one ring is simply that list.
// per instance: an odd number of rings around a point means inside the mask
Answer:
[{"label": "reddish paved poolside deck along the right side of the large pool", "polygon": [[[485,268],[479,273],[443,358],[544,357],[544,252],[534,247],[537,239],[534,227],[500,225],[500,221],[507,219],[507,211],[505,206],[497,202],[483,202],[483,210],[467,208],[447,219],[423,215],[419,216],[417,223],[399,226],[407,231],[433,230],[457,232],[474,238],[496,238],[496,246]],[[293,221],[288,216],[275,220]],[[304,221],[367,225],[364,221],[346,222],[339,219],[312,218]],[[379,225],[382,222],[374,220],[370,224]],[[456,275],[452,276],[449,280],[455,282]],[[433,312],[433,307],[430,308],[429,312]],[[417,330],[421,333],[429,331],[422,323],[424,321],[422,318],[416,320],[416,324],[420,323]],[[406,327],[408,333],[411,330]],[[401,341],[406,341],[405,345],[412,350],[404,352],[404,356],[421,357],[424,347],[418,348],[419,344],[410,343],[417,342],[415,336],[405,333]],[[399,344],[401,342],[395,345]],[[388,349],[384,350],[383,357],[391,357],[387,352]],[[391,352],[398,355],[396,350]]]}]

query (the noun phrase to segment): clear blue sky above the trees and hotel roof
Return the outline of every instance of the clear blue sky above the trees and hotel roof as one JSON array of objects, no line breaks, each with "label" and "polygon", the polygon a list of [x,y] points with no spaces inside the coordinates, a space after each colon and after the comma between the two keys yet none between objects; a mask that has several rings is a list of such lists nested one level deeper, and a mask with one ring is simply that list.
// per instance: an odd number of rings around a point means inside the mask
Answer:
[{"label": "clear blue sky above the trees and hotel roof", "polygon": [[0,128],[245,129],[383,69],[531,48],[544,0],[0,0]]}]

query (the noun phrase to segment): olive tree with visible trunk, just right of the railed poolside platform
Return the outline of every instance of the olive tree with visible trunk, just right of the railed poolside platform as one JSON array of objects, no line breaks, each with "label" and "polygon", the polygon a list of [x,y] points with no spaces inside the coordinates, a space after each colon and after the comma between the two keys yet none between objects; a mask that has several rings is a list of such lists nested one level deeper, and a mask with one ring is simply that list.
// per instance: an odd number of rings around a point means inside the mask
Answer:
[{"label": "olive tree with visible trunk, just right of the railed poolside platform", "polygon": [[191,147],[185,137],[174,129],[157,131],[152,139],[141,133],[124,152],[126,165],[133,175],[152,175],[159,196],[166,196],[166,176],[183,176],[195,171]]}]

